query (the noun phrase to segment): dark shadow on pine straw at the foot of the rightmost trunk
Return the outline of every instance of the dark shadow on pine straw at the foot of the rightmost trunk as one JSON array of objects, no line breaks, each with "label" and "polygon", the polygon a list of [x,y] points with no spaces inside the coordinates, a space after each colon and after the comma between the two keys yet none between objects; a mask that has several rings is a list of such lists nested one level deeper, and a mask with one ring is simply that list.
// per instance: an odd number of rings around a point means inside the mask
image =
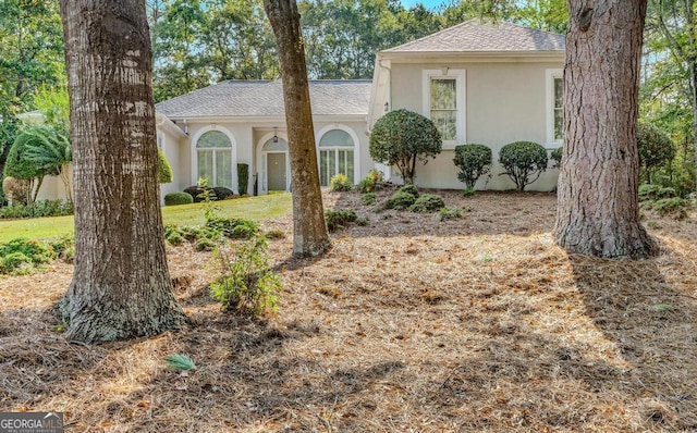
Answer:
[{"label": "dark shadow on pine straw at the foot of the rightmost trunk", "polygon": [[645,417],[697,431],[697,299],[668,283],[656,259],[570,262],[587,314],[632,366],[622,383]]}]

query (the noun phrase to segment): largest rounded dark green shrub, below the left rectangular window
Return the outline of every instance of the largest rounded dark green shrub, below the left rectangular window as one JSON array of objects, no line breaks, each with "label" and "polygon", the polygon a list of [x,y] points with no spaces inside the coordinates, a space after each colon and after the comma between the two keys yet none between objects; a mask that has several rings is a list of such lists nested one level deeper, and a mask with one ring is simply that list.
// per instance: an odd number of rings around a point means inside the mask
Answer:
[{"label": "largest rounded dark green shrub, below the left rectangular window", "polygon": [[440,153],[441,147],[433,122],[408,110],[390,111],[378,119],[370,133],[370,157],[396,165],[405,184],[414,184],[416,161],[426,164]]}]

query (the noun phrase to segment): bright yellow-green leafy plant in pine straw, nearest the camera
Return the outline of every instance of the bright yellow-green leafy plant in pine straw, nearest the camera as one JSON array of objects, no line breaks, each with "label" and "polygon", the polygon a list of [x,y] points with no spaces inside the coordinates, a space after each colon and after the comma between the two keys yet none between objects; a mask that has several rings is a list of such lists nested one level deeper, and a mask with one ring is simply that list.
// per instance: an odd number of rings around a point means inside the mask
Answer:
[{"label": "bright yellow-green leafy plant in pine straw, nearest the camera", "polygon": [[225,311],[245,316],[276,312],[281,280],[270,269],[266,250],[262,236],[243,242],[232,256],[222,248],[216,250],[222,275],[210,285],[210,295]]}]

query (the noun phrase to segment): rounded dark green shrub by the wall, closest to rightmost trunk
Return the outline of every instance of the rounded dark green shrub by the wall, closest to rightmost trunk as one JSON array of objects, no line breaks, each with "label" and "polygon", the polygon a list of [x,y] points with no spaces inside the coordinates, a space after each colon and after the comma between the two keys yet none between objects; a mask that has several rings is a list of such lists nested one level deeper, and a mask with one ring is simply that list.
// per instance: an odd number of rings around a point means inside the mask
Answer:
[{"label": "rounded dark green shrub by the wall, closest to rightmost trunk", "polygon": [[547,150],[537,143],[514,141],[501,148],[499,163],[505,170],[502,174],[506,174],[517,190],[523,191],[547,170]]}]

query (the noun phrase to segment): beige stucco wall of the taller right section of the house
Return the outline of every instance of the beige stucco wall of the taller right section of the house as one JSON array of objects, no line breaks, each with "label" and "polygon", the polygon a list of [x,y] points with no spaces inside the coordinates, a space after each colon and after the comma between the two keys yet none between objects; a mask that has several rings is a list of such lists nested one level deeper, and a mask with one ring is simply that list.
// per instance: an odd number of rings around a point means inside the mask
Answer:
[{"label": "beige stucco wall of the taller right section of the house", "polygon": [[[391,108],[424,113],[424,70],[448,66],[465,71],[465,141],[478,143],[492,149],[494,163],[490,178],[477,183],[479,189],[513,189],[515,185],[499,166],[498,151],[504,145],[536,141],[548,149],[560,144],[548,143],[548,70],[563,67],[559,63],[539,62],[451,62],[435,65],[392,63]],[[461,143],[457,143],[461,144]],[[457,169],[452,162],[454,144],[424,166],[417,166],[416,183],[433,188],[463,188]],[[551,163],[550,163],[551,166]],[[396,170],[392,171],[398,174]],[[526,189],[551,190],[557,185],[558,170],[546,173]],[[398,176],[394,181],[400,182]]]}]

